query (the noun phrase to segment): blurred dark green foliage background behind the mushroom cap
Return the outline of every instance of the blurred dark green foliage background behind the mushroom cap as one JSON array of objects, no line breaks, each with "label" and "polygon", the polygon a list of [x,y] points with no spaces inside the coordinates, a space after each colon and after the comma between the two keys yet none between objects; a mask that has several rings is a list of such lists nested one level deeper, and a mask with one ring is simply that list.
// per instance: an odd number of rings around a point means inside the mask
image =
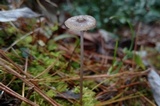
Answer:
[{"label": "blurred dark green foliage background behind the mushroom cap", "polygon": [[[97,28],[116,31],[128,23],[159,23],[159,0],[1,0],[12,8],[28,6],[53,22],[73,15],[89,14],[96,18]],[[1,6],[2,8],[2,6]],[[58,16],[58,19],[55,18]]]}]

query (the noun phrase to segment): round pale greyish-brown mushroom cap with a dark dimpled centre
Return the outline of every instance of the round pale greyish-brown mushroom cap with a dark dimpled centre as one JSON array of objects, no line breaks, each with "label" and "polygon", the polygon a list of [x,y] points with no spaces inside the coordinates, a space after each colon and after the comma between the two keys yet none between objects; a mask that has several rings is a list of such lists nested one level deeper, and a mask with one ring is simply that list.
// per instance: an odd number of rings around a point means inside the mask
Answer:
[{"label": "round pale greyish-brown mushroom cap with a dark dimpled centre", "polygon": [[86,31],[96,26],[96,20],[89,15],[79,15],[67,19],[65,25],[71,30]]}]

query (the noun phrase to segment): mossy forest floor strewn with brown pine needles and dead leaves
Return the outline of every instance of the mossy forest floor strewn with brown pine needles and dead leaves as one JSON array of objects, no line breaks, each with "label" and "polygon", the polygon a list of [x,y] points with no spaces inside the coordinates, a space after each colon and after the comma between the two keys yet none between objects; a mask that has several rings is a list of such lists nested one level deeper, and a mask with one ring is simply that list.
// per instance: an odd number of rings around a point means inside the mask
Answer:
[{"label": "mossy forest floor strewn with brown pine needles and dead leaves", "polygon": [[[18,98],[21,102],[17,105],[28,103],[40,106],[78,106],[79,33],[70,32],[63,26],[51,27],[43,22],[37,23],[36,19],[23,20],[34,20],[32,26],[30,23],[26,24],[28,30],[16,27],[17,30],[9,32],[8,29],[15,28],[15,24],[23,26],[24,23],[18,20],[12,24],[4,23],[0,30],[1,33],[7,34],[0,35],[1,40],[15,38],[12,44],[0,45],[0,103]],[[138,30],[141,31],[140,28]],[[84,35],[84,106],[159,104],[159,100],[156,99],[159,95],[154,93],[159,91],[154,84],[158,82],[159,77],[148,68],[155,62],[146,59],[154,56],[155,53],[150,51],[158,41],[150,41],[150,37],[145,37],[146,34],[142,31],[137,34],[138,40],[134,40],[134,45],[138,46],[136,51],[149,51],[143,60],[136,57],[139,55],[136,55],[134,50],[127,49],[132,42],[130,34],[125,35],[126,40],[115,38],[114,34],[105,30],[87,32]],[[119,45],[116,47],[117,41]],[[159,52],[156,52],[157,58],[158,54]],[[28,64],[25,64],[26,57]],[[149,66],[142,66],[142,61],[147,61]],[[155,66],[158,71],[159,66]],[[27,71],[24,71],[25,67]],[[23,83],[26,85],[24,89]],[[24,97],[21,95],[22,92]]]}]

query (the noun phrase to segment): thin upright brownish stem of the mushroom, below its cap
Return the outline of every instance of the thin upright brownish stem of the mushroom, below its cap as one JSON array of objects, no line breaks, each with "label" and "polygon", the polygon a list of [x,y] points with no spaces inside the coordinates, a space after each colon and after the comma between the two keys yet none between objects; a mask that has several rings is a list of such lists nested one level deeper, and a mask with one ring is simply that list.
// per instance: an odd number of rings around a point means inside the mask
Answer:
[{"label": "thin upright brownish stem of the mushroom, below its cap", "polygon": [[83,45],[84,31],[80,31],[81,37],[81,56],[80,56],[80,105],[83,106],[83,58],[84,58],[84,45]]}]

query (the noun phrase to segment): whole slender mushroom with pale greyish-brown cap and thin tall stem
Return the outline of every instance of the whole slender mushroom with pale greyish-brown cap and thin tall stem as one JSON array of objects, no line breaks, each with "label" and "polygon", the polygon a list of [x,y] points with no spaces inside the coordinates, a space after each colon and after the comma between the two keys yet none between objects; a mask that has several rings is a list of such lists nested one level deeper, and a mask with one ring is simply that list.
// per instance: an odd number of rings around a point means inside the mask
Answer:
[{"label": "whole slender mushroom with pale greyish-brown cap and thin tall stem", "polygon": [[81,55],[80,55],[80,104],[82,103],[83,98],[83,58],[84,58],[84,46],[83,46],[83,36],[84,32],[90,30],[96,26],[96,20],[89,15],[79,15],[74,16],[65,21],[65,25],[74,31],[80,31],[80,46],[81,46]]}]

